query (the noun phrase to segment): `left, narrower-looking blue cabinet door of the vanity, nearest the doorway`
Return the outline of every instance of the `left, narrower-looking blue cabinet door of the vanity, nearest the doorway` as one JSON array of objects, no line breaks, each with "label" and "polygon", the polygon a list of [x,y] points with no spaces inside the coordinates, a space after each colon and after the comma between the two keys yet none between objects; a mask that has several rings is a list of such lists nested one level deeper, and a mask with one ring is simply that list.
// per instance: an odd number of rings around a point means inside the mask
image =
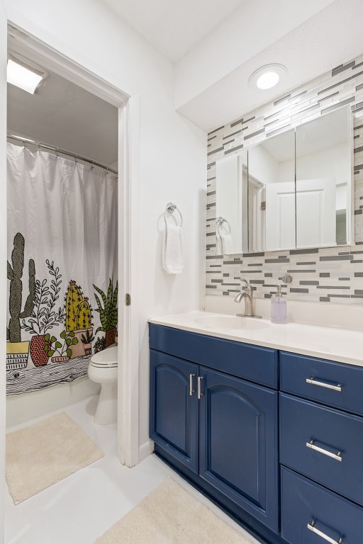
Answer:
[{"label": "left, narrower-looking blue cabinet door of the vanity, nearest the doorway", "polygon": [[150,350],[150,438],[194,472],[198,472],[197,376],[198,365]]}]

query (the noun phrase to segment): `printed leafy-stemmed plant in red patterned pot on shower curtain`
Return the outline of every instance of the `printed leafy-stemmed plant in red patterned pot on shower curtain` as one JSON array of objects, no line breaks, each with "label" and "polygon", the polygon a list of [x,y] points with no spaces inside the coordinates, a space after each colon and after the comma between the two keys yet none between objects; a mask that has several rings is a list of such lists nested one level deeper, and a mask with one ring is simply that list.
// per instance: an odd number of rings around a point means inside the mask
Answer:
[{"label": "printed leafy-stemmed plant in red patterned pot on shower curtain", "polygon": [[61,306],[55,310],[56,302],[60,297],[62,274],[60,274],[59,268],[55,267],[54,261],[50,263],[47,259],[45,263],[47,263],[48,271],[52,276],[50,285],[48,285],[48,279],[35,280],[33,311],[27,321],[25,316],[21,316],[25,317],[21,329],[25,329],[33,335],[30,340],[30,356],[35,366],[44,366],[48,363],[48,349],[46,349],[48,344],[45,336],[47,336],[48,330],[57,327],[65,319]]}]

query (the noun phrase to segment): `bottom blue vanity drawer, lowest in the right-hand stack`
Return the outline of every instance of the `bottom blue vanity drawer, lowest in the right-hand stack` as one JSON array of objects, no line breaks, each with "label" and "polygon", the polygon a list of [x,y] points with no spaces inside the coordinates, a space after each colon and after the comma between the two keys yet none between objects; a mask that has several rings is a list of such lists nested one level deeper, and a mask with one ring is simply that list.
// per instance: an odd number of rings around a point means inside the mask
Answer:
[{"label": "bottom blue vanity drawer, lowest in the right-hand stack", "polygon": [[[314,533],[308,526],[314,524]],[[363,509],[291,470],[281,468],[281,536],[291,544],[359,544]]]}]

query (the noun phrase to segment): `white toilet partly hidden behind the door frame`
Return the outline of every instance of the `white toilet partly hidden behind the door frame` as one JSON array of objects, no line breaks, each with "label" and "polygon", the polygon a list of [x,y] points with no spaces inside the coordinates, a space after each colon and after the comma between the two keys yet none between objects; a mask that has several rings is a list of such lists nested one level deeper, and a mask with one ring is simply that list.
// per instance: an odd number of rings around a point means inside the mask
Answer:
[{"label": "white toilet partly hidden behind the door frame", "polygon": [[94,422],[109,425],[117,421],[117,346],[99,351],[91,356],[89,379],[101,384]]}]

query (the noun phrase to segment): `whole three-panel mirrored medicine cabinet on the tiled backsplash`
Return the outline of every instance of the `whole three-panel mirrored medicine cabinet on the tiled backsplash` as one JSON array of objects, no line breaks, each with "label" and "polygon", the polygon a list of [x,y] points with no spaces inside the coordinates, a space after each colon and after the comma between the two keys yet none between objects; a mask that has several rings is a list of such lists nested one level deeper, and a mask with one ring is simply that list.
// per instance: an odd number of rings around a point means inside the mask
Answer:
[{"label": "whole three-panel mirrored medicine cabinet on the tiled backsplash", "polygon": [[352,244],[352,113],[320,115],[216,162],[216,254]]}]

